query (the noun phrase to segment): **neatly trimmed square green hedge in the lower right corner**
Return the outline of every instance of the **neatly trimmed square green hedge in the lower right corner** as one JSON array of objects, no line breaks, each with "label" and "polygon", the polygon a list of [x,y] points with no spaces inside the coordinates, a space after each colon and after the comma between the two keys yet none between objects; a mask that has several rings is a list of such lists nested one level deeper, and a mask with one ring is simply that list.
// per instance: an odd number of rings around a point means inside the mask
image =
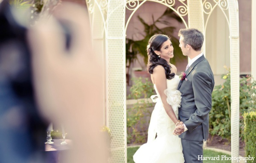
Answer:
[{"label": "neatly trimmed square green hedge in the lower right corner", "polygon": [[256,156],[256,112],[244,113],[244,140],[246,157]]}]

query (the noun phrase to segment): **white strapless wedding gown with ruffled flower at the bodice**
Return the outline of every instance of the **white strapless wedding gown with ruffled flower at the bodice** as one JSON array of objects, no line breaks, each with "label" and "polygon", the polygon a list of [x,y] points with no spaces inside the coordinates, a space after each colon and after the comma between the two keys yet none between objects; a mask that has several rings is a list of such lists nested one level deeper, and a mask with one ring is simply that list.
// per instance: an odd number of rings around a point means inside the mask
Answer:
[{"label": "white strapless wedding gown with ruffled flower at the bodice", "polygon": [[[172,106],[177,118],[181,101],[181,93],[177,90],[179,82],[179,76],[175,75],[173,79],[167,80],[167,89],[164,91],[167,96],[167,102]],[[184,163],[181,140],[178,135],[172,134],[175,124],[164,110],[155,85],[154,89],[158,98],[148,127],[148,142],[140,146],[134,154],[134,162]],[[157,138],[155,138],[156,134]]]}]

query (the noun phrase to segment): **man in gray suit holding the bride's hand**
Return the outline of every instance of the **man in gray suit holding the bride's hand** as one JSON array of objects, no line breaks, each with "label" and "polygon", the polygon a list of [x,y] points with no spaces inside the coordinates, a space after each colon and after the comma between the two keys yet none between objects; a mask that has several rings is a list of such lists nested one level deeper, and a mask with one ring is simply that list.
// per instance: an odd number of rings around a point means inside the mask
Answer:
[{"label": "man in gray suit holding the bride's hand", "polygon": [[201,31],[180,29],[178,35],[181,51],[190,60],[178,85],[182,94],[179,119],[184,124],[176,126],[174,134],[181,138],[185,163],[203,163],[198,155],[203,155],[203,143],[208,138],[214,77],[201,52],[204,42]]}]

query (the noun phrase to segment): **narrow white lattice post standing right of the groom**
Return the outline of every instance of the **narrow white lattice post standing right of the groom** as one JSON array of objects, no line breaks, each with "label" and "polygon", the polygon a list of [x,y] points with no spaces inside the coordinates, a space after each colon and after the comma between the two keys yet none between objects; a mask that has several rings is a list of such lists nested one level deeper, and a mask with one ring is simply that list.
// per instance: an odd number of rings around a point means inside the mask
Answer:
[{"label": "narrow white lattice post standing right of the groom", "polygon": [[[231,85],[231,155],[239,157],[239,13],[237,0],[229,0],[230,85]],[[232,160],[235,163],[236,160]]]}]

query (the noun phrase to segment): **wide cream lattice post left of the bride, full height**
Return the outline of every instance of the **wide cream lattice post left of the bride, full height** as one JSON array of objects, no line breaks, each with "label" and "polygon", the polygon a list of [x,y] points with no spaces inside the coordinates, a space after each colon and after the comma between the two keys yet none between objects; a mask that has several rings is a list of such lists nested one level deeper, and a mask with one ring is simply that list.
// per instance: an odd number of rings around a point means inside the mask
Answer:
[{"label": "wide cream lattice post left of the bride, full height", "polygon": [[111,163],[126,163],[125,1],[109,0],[106,30],[107,125]]}]

